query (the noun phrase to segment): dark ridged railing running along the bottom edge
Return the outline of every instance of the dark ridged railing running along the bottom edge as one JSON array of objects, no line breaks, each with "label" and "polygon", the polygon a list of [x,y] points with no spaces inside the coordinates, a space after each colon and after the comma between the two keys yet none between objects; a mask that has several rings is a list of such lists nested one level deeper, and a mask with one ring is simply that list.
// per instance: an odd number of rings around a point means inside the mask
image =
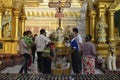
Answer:
[{"label": "dark ridged railing running along the bottom edge", "polygon": [[0,80],[120,80],[120,74],[51,75],[0,73]]}]

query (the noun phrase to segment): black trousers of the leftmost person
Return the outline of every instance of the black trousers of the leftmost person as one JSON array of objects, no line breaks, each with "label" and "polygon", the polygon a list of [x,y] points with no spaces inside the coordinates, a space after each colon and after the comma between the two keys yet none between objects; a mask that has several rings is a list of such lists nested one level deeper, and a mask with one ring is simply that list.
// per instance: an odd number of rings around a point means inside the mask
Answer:
[{"label": "black trousers of the leftmost person", "polygon": [[23,71],[24,71],[24,73],[27,73],[30,55],[28,53],[24,53],[22,56],[24,57],[25,61],[22,65],[19,73],[23,73]]}]

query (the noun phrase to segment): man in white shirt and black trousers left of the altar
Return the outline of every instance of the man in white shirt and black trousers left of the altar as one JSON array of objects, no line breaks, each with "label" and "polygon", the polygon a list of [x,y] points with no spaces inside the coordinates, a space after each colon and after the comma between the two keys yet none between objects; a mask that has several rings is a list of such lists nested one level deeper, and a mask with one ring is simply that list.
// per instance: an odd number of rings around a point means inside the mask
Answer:
[{"label": "man in white shirt and black trousers left of the altar", "polygon": [[50,39],[48,39],[45,35],[46,35],[45,30],[41,29],[40,35],[36,36],[35,38],[36,51],[37,51],[37,56],[38,56],[37,65],[38,65],[39,72],[43,71],[43,67],[42,67],[43,66],[42,64],[43,50],[46,46],[46,43],[50,41]]}]

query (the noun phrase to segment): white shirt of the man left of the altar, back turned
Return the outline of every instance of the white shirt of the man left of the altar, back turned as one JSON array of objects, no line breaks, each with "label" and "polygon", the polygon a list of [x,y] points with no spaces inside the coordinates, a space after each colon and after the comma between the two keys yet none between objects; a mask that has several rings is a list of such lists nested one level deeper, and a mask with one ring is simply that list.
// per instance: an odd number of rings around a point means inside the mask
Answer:
[{"label": "white shirt of the man left of the altar, back turned", "polygon": [[38,35],[35,38],[35,44],[36,44],[36,51],[43,51],[45,45],[50,41],[46,36],[44,35]]}]

